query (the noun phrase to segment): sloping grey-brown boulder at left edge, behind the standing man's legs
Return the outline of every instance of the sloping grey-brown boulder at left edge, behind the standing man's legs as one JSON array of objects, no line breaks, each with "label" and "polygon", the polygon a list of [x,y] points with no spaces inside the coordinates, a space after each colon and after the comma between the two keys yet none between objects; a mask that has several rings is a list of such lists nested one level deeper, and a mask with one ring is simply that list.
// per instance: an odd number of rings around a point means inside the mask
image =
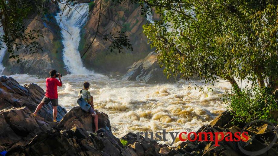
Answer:
[{"label": "sloping grey-brown boulder at left edge, behind the standing man's legs", "polygon": [[[28,107],[34,112],[44,97],[44,90],[37,84],[21,86],[15,79],[0,77],[0,110],[6,107]],[[58,106],[57,120],[61,120],[67,111]],[[38,113],[46,121],[53,121],[53,109],[51,102],[44,105]]]}]

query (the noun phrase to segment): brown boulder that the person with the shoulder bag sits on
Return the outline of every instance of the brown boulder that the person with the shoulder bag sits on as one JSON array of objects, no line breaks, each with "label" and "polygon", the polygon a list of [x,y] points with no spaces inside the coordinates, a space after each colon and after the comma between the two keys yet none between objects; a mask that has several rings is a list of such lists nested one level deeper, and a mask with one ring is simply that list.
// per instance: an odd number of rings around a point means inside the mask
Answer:
[{"label": "brown boulder that the person with the shoulder bag sits on", "polygon": [[[108,115],[96,111],[98,115],[98,128],[105,128],[111,131]],[[72,108],[64,118],[59,122],[58,129],[72,129],[73,127],[83,128],[85,131],[95,131],[93,117],[90,113],[85,112],[81,107]]]}]

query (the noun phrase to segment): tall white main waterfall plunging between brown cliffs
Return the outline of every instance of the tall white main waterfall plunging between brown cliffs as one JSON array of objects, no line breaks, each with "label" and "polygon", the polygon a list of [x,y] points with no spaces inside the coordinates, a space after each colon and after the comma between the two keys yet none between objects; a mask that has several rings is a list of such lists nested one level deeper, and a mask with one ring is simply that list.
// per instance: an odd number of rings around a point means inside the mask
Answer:
[{"label": "tall white main waterfall plunging between brown cliffs", "polygon": [[81,3],[66,6],[64,1],[59,3],[59,8],[60,13],[55,18],[62,28],[64,64],[71,74],[88,74],[90,71],[84,67],[78,51],[80,28],[87,22],[89,14],[88,4]]}]

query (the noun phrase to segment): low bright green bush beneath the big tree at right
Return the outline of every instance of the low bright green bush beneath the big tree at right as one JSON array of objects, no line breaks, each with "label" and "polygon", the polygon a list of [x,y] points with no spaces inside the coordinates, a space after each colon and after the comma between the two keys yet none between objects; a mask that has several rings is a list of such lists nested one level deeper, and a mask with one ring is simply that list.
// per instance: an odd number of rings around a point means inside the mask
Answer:
[{"label": "low bright green bush beneath the big tree at right", "polygon": [[228,104],[227,109],[234,115],[239,122],[251,122],[256,119],[267,119],[272,122],[273,111],[278,110],[275,95],[271,94],[270,88],[254,87],[252,90],[248,88],[233,90],[228,96],[224,97]]}]

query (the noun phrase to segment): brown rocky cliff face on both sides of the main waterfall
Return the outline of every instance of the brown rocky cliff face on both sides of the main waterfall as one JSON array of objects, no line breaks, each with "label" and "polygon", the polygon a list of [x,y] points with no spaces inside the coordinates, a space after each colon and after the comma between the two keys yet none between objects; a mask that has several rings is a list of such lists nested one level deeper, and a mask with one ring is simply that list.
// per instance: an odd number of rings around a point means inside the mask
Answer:
[{"label": "brown rocky cliff face on both sides of the main waterfall", "polygon": [[[5,67],[3,75],[30,74],[46,77],[53,68],[67,74],[62,58],[61,29],[57,26],[58,24],[54,18],[59,8],[53,2],[45,1],[44,3],[45,7],[50,10],[49,14],[41,17],[38,12],[34,12],[25,20],[25,32],[40,30],[40,33],[43,34],[44,37],[36,40],[41,44],[43,52],[32,53],[25,46],[21,46],[15,53],[20,57],[21,61],[19,63],[17,63],[17,59],[9,59],[10,54],[5,53],[2,62]],[[100,0],[73,0],[70,2],[71,5],[77,3],[88,3],[90,8],[88,21],[80,33],[81,40],[78,49],[82,55],[96,34]],[[125,74],[127,67],[148,55],[151,49],[147,44],[146,36],[142,33],[142,25],[148,21],[140,15],[140,9],[141,7],[138,4],[118,4],[112,1],[102,1],[99,33],[97,33],[93,45],[83,57],[86,68],[106,74],[110,74],[110,72]],[[47,22],[44,22],[45,19],[47,19]],[[111,42],[103,40],[103,36],[117,31],[126,31],[126,35],[133,46],[132,52],[111,53],[108,50]]]}]

